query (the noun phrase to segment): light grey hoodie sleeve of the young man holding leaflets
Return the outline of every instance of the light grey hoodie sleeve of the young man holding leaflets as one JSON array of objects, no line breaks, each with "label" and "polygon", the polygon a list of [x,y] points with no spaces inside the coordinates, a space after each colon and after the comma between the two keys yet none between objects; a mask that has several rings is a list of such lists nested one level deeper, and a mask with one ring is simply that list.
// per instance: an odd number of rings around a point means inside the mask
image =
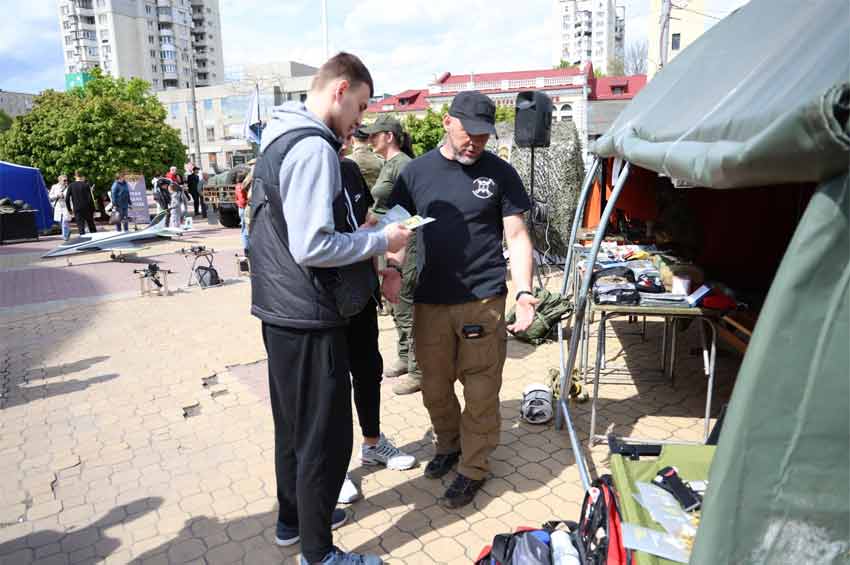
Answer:
[{"label": "light grey hoodie sleeve of the young man holding leaflets", "polygon": [[335,231],[333,201],[342,181],[339,157],[326,141],[299,141],[281,163],[279,182],[289,251],[299,265],[341,267],[386,253],[383,232]]}]

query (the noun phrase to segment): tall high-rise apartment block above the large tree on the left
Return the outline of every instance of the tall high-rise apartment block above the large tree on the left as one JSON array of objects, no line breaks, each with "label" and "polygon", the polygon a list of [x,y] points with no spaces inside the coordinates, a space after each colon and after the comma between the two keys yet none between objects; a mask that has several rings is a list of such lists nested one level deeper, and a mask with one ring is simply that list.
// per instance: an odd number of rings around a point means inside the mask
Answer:
[{"label": "tall high-rise apartment block above the large tree on the left", "polygon": [[[224,81],[218,0],[59,0],[65,85],[94,67],[154,90]],[[193,60],[194,57],[194,60]]]}]

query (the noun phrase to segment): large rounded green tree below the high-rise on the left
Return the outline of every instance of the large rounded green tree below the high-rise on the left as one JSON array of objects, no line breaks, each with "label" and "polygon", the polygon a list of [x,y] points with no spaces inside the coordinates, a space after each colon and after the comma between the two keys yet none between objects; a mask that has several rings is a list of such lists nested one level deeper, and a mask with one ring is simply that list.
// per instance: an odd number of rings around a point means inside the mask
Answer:
[{"label": "large rounded green tree below the high-rise on the left", "polygon": [[165,123],[148,83],[99,69],[92,75],[83,87],[37,96],[32,111],[0,137],[0,159],[38,167],[48,183],[79,170],[98,194],[109,190],[118,171],[150,179],[185,162],[180,133]]}]

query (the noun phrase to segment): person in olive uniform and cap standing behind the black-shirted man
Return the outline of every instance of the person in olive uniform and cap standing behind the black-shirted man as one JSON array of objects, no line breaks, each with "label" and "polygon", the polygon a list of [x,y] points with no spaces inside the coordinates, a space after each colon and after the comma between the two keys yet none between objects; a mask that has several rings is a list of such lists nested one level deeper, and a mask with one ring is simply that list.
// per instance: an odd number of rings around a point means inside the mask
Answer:
[{"label": "person in olive uniform and cap standing behind the black-shirted man", "polygon": [[[410,135],[402,129],[398,120],[391,116],[379,116],[375,123],[363,126],[361,130],[369,134],[369,142],[375,153],[386,161],[378,180],[372,186],[372,198],[375,200],[373,211],[384,214],[387,200],[398,176],[413,159]],[[405,261],[401,269],[402,290],[398,304],[393,305],[393,320],[398,332],[398,360],[384,370],[388,378],[401,377],[393,385],[396,394],[419,392],[422,373],[416,363],[416,344],[413,339],[413,291],[416,289],[416,237],[412,234],[405,249]]]}]

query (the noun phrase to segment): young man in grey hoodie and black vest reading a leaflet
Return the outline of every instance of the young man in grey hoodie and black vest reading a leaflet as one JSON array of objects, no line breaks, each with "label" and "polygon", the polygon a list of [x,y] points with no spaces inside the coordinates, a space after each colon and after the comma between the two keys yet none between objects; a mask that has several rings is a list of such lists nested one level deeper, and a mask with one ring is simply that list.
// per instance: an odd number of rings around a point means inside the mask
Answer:
[{"label": "young man in grey hoodie and black vest reading a leaflet", "polygon": [[277,543],[301,541],[302,563],[382,563],[344,553],[331,529],[351,458],[347,320],[328,283],[335,269],[402,249],[410,231],[357,230],[337,152],[373,94],[368,69],[339,53],[316,75],[305,103],[273,112],[263,131],[251,194],[251,312],[262,320],[275,423],[280,504]]}]

